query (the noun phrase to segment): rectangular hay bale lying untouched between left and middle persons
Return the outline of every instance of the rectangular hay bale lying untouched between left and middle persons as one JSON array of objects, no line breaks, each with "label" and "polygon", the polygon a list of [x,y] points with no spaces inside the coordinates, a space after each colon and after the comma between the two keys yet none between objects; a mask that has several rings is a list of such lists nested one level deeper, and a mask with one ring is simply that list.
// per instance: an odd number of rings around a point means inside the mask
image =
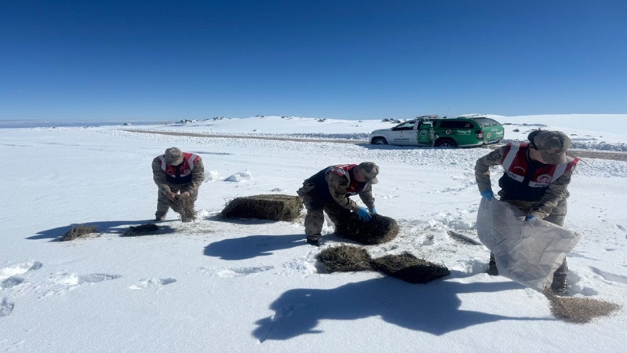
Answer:
[{"label": "rectangular hay bale lying untouched between left and middle persons", "polygon": [[298,196],[270,194],[236,197],[222,210],[226,218],[258,218],[295,220],[300,216],[303,202]]}]

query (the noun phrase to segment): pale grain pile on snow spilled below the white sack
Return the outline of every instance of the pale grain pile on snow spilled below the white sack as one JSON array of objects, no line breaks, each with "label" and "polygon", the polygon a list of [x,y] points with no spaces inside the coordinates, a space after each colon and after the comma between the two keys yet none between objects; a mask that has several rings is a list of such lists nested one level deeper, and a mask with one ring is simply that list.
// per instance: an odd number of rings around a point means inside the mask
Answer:
[{"label": "pale grain pile on snow spilled below the white sack", "polygon": [[544,295],[551,301],[553,316],[571,323],[587,323],[595,317],[608,316],[621,308],[618,304],[593,298],[556,296],[550,291],[545,291]]}]

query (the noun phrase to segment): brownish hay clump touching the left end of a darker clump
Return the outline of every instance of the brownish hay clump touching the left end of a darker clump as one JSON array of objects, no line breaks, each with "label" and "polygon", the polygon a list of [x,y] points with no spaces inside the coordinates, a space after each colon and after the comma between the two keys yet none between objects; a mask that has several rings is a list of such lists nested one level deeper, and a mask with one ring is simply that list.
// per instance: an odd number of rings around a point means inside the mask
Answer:
[{"label": "brownish hay clump touching the left end of a darker clump", "polygon": [[368,271],[374,269],[370,254],[363,247],[345,245],[327,247],[318,254],[318,260],[329,272]]}]

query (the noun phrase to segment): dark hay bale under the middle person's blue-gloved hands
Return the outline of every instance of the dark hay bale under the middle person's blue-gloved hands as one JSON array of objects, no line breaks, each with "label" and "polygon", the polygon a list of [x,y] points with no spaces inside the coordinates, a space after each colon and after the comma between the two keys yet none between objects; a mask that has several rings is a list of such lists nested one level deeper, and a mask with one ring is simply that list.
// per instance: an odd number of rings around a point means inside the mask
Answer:
[{"label": "dark hay bale under the middle person's blue-gloved hands", "polygon": [[375,214],[367,222],[359,219],[354,212],[340,215],[335,224],[335,234],[361,244],[381,244],[394,239],[398,234],[396,220]]}]

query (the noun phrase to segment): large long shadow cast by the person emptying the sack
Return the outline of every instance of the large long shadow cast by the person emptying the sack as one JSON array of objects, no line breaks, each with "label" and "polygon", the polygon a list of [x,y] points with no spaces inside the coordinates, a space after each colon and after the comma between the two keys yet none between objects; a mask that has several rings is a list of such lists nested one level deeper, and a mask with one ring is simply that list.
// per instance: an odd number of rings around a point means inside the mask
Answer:
[{"label": "large long shadow cast by the person emptying the sack", "polygon": [[275,315],[256,322],[253,336],[260,342],[285,340],[303,334],[319,334],[320,320],[355,320],[381,317],[410,330],[443,335],[480,323],[498,320],[553,320],[507,317],[460,310],[460,293],[492,292],[522,288],[515,282],[457,283],[435,281],[412,285],[394,278],[348,283],[329,290],[288,290],[270,305]]}]

